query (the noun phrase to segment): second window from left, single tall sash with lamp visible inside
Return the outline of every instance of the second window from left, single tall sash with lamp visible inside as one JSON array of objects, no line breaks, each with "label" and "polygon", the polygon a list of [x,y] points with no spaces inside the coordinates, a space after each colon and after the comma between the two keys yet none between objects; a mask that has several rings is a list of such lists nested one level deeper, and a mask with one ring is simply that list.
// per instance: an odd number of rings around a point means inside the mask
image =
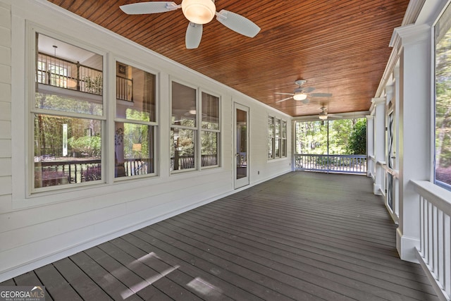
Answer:
[{"label": "second window from left, single tall sash with lamp visible inside", "polygon": [[156,76],[116,62],[116,178],[155,173]]}]

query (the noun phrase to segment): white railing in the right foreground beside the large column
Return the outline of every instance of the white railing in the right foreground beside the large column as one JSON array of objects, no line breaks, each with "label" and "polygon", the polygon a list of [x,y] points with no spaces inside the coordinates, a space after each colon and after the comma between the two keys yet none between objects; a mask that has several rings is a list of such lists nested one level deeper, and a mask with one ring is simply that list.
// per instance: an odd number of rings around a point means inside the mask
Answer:
[{"label": "white railing in the right foreground beside the large column", "polygon": [[420,246],[416,255],[440,300],[451,300],[451,192],[429,181],[412,183],[420,197]]}]

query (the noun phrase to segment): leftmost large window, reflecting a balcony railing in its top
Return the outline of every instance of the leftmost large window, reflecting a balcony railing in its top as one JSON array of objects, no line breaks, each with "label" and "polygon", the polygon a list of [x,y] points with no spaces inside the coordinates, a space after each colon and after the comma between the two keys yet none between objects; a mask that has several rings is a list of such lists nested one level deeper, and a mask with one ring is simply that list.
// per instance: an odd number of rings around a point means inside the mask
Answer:
[{"label": "leftmost large window, reflecting a balcony railing in its top", "polygon": [[36,34],[32,188],[102,180],[103,56]]}]

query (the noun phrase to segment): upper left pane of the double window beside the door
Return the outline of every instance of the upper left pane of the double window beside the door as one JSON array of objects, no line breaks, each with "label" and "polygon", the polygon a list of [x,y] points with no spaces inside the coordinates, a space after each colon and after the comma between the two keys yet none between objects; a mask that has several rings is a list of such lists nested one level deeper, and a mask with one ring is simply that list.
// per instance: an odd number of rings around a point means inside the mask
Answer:
[{"label": "upper left pane of the double window beside the door", "polygon": [[196,114],[196,90],[178,82],[172,82],[171,123],[195,127],[197,126]]}]

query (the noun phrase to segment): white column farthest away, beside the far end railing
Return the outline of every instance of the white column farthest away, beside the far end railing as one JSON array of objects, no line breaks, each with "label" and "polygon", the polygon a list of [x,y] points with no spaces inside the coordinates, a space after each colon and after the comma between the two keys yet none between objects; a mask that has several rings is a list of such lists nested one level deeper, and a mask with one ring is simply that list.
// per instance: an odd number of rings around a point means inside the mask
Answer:
[{"label": "white column farthest away, beside the far end railing", "polygon": [[376,159],[373,193],[382,195],[384,170],[381,163],[385,162],[385,98],[373,98],[371,102],[374,106],[374,158]]}]

